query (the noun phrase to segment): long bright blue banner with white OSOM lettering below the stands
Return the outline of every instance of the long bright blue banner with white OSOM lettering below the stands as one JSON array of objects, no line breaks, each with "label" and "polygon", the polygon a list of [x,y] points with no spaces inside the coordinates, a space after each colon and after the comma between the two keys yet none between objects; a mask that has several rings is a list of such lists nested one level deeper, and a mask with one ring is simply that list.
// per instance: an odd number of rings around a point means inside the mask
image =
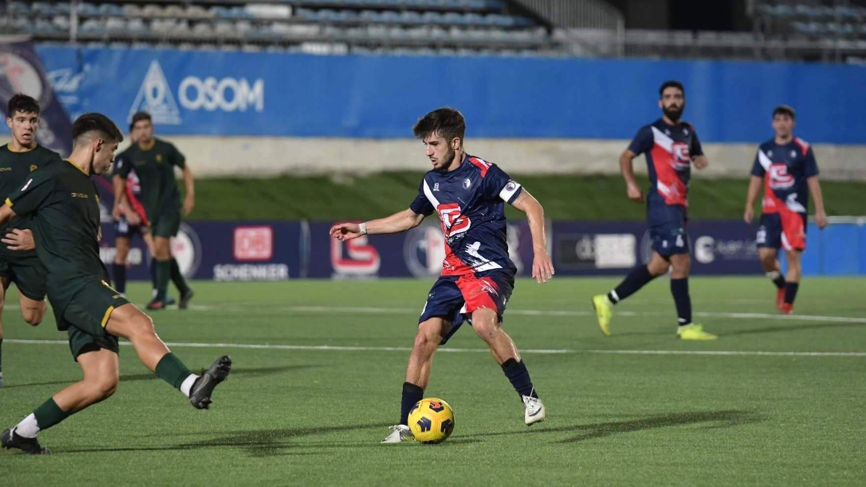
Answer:
[{"label": "long bright blue banner with white OSOM lettering below the stands", "polygon": [[[410,138],[439,106],[459,108],[469,137],[631,138],[660,116],[662,81],[686,87],[685,118],[705,142],[767,137],[772,108],[798,110],[812,143],[863,144],[866,66],[240,53],[40,47],[73,115],[126,124],[151,112],[171,134]],[[747,94],[744,94],[747,93]]]}]

